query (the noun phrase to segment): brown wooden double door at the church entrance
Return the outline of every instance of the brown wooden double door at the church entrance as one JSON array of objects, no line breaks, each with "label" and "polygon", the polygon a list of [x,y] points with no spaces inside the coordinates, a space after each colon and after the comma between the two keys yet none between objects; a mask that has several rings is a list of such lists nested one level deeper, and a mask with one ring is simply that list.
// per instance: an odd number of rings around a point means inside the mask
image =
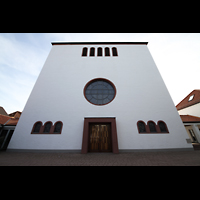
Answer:
[{"label": "brown wooden double door at the church entrance", "polygon": [[89,151],[111,152],[111,124],[89,125]]}]

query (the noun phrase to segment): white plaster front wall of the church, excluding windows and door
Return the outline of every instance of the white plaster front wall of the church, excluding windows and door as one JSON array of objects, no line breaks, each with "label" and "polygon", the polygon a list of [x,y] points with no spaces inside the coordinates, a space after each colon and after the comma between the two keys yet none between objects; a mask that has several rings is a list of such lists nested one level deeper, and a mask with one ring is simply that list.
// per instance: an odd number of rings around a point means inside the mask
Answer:
[{"label": "white plaster front wall of the church, excluding windows and door", "polygon": [[[113,46],[117,57],[81,56],[83,47]],[[94,78],[115,84],[110,104],[95,106],[85,99],[83,88]],[[84,117],[116,117],[119,149],[192,148],[146,45],[52,46],[8,149],[80,150]],[[138,120],[163,120],[170,133],[139,134]],[[30,134],[36,121],[62,121],[62,134]]]}]

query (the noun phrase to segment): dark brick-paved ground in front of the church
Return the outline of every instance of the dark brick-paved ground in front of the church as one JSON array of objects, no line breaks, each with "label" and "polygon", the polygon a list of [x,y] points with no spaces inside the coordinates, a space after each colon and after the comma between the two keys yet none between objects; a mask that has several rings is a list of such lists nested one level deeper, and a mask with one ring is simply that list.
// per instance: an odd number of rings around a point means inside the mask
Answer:
[{"label": "dark brick-paved ground in front of the church", "polygon": [[200,166],[200,151],[131,153],[0,152],[0,166]]}]

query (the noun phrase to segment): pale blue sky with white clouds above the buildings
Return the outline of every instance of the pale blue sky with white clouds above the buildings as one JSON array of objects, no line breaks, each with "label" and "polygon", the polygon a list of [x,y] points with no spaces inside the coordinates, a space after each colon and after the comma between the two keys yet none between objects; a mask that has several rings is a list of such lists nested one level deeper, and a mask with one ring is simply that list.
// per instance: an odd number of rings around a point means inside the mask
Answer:
[{"label": "pale blue sky with white clouds above the buildings", "polygon": [[199,33],[0,33],[0,106],[23,111],[51,42],[149,42],[175,105],[200,89]]}]

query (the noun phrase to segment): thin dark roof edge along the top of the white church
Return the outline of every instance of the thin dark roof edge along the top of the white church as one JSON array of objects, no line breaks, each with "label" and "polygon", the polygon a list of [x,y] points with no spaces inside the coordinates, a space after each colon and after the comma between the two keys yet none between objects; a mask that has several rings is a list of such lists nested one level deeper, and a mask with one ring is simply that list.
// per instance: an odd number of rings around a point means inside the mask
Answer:
[{"label": "thin dark roof edge along the top of the white church", "polygon": [[86,44],[118,44],[118,45],[147,45],[148,42],[51,42],[52,45],[86,45]]}]

